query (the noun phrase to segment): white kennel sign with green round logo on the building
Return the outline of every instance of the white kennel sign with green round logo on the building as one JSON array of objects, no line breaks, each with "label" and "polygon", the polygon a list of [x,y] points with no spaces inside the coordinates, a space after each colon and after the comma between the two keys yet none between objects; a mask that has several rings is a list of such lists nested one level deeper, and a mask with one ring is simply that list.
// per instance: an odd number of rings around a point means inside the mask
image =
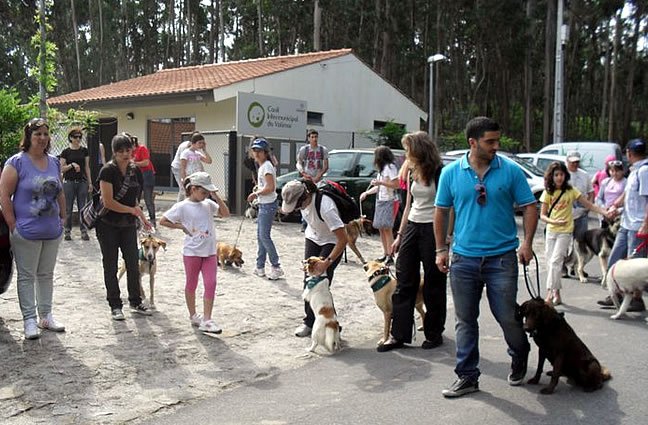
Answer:
[{"label": "white kennel sign with green round logo on the building", "polygon": [[238,92],[236,129],[245,135],[306,139],[306,101]]}]

